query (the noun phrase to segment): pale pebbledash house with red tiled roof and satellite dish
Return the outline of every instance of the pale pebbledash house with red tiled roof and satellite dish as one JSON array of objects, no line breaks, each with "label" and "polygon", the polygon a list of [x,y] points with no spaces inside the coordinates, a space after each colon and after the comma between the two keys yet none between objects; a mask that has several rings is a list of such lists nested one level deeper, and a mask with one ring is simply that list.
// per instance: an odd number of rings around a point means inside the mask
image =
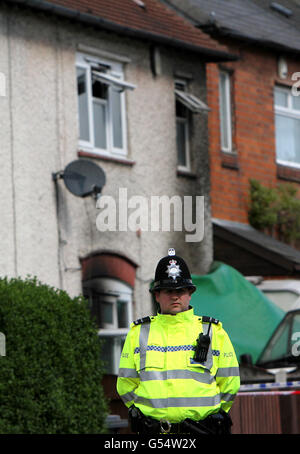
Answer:
[{"label": "pale pebbledash house with red tiled roof and satellite dish", "polygon": [[[0,273],[89,299],[117,411],[157,261],[212,262],[206,64],[234,55],[154,0],[5,1],[0,48]],[[78,160],[105,176],[97,200],[64,184]]]}]

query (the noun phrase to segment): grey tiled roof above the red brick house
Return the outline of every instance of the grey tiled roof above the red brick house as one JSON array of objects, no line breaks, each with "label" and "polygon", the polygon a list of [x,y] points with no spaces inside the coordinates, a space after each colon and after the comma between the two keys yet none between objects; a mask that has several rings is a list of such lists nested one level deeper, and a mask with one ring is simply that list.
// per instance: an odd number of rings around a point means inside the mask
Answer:
[{"label": "grey tiled roof above the red brick house", "polygon": [[[300,8],[297,8],[295,2],[293,8],[295,17],[289,19],[270,9],[271,1],[267,0],[168,0],[168,2],[177,10],[181,10],[185,17],[189,17],[192,23],[197,23],[200,27],[210,25],[213,32],[218,32],[219,35],[250,39],[261,42],[264,46],[297,53],[300,51],[297,19],[300,18]],[[290,7],[292,5],[291,2],[285,4]]]}]

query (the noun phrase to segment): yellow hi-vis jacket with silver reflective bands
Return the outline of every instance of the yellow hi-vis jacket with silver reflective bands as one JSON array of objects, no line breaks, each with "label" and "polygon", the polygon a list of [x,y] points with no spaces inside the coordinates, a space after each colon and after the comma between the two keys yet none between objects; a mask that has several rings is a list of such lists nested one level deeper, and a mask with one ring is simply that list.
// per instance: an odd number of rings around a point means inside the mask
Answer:
[{"label": "yellow hi-vis jacket with silver reflective bands", "polygon": [[123,347],[117,391],[125,405],[171,423],[204,419],[220,409],[228,412],[240,377],[222,324],[211,324],[207,359],[200,364],[193,360],[196,340],[207,333],[209,323],[193,308],[147,319],[131,325]]}]

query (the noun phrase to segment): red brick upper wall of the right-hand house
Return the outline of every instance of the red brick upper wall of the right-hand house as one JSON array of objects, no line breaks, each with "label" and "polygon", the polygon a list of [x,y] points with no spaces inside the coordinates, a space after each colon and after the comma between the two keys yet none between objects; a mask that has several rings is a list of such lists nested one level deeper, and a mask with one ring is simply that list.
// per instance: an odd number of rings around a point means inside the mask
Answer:
[{"label": "red brick upper wall of the right-hand house", "polygon": [[[248,222],[249,178],[275,186],[284,180],[300,182],[300,172],[277,169],[273,88],[276,82],[292,85],[290,77],[300,71],[298,59],[287,58],[289,79],[277,76],[275,53],[244,46],[230,50],[236,62],[207,65],[212,216]],[[233,147],[236,156],[221,152],[219,126],[219,68],[232,69]],[[279,179],[280,175],[280,179]],[[300,186],[300,185],[299,185]]]}]

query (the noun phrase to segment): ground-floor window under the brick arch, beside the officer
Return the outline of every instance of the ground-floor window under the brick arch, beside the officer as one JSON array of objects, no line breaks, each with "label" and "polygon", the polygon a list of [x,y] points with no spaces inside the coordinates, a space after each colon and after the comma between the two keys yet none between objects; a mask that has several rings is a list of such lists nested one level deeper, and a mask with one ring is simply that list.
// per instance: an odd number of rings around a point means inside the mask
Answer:
[{"label": "ground-floor window under the brick arch, beside the officer", "polygon": [[95,278],[84,282],[83,292],[99,327],[105,372],[117,375],[132,321],[132,289],[117,279]]}]

